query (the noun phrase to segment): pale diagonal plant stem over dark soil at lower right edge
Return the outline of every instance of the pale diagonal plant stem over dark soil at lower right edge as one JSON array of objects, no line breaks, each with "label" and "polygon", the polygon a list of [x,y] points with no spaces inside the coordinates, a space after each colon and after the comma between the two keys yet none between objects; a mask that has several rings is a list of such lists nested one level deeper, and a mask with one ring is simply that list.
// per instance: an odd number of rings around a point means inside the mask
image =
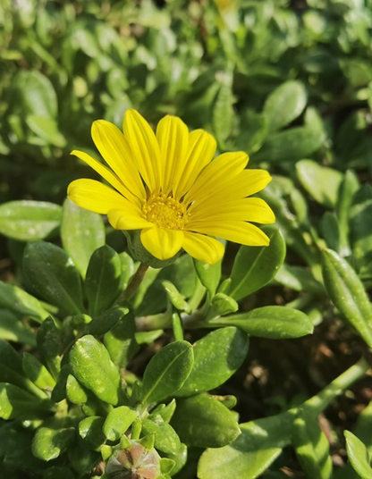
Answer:
[{"label": "pale diagonal plant stem over dark soil at lower right edge", "polygon": [[317,416],[320,414],[337,396],[347,390],[353,382],[358,381],[370,369],[368,361],[362,357],[358,363],[351,366],[345,372],[340,374],[333,382],[330,382],[325,389],[317,393],[316,396],[305,401],[302,405],[310,414]]}]

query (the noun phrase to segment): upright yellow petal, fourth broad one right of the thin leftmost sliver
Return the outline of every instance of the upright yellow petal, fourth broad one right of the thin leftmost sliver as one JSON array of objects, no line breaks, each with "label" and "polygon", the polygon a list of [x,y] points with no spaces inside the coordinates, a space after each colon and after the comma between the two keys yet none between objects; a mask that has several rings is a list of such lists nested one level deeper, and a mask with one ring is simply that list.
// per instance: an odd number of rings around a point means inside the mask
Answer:
[{"label": "upright yellow petal, fourth broad one right of the thin leftmost sliver", "polygon": [[174,179],[174,197],[182,197],[191,188],[199,173],[212,161],[216,147],[216,139],[207,131],[194,130],[190,132],[185,163],[180,164]]}]

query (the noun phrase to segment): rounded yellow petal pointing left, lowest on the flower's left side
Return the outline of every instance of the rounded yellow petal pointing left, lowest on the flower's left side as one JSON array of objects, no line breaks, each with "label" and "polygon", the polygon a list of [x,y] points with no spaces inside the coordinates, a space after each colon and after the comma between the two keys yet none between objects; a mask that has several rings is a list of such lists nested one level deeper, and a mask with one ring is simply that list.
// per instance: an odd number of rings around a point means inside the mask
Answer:
[{"label": "rounded yellow petal pointing left, lowest on the flower's left side", "polygon": [[81,208],[100,214],[107,214],[111,209],[137,208],[117,191],[95,180],[72,181],[67,197]]}]

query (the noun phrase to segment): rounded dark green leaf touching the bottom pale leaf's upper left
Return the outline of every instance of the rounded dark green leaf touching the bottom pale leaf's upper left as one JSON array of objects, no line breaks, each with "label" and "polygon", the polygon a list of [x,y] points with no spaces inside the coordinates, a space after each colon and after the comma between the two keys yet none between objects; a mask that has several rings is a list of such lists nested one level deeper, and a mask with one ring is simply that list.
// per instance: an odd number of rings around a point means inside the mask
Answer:
[{"label": "rounded dark green leaf touching the bottom pale leaf's upper left", "polygon": [[171,424],[182,442],[198,448],[221,448],[241,433],[232,412],[207,394],[178,399]]}]

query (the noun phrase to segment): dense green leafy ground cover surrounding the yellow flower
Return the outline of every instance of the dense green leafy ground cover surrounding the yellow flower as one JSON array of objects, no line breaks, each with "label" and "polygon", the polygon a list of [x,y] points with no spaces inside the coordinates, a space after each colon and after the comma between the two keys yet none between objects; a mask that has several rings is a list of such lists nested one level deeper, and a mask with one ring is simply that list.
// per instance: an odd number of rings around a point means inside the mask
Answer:
[{"label": "dense green leafy ground cover surrounding the yellow flower", "polygon": [[[370,479],[371,9],[0,5],[0,475]],[[96,155],[91,122],[131,107],[270,172],[270,245],[145,273],[121,231],[65,199],[97,180],[69,155]],[[323,336],[321,366],[335,361],[312,381]],[[310,385],[288,393],[303,362]],[[359,414],[328,415],[365,376]]]}]

